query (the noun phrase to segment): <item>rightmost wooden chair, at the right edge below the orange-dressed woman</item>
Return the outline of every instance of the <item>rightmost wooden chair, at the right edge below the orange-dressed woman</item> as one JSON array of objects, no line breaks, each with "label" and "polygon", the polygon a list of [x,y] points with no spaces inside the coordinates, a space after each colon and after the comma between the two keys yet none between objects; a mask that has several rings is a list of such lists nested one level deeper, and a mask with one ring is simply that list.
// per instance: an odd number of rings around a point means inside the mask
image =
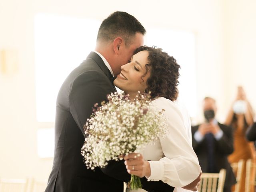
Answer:
[{"label": "rightmost wooden chair, at the right edge below the orange-dressed woman", "polygon": [[253,162],[253,160],[248,159],[246,161],[245,192],[250,192],[252,186],[256,185],[255,168],[256,164]]}]

